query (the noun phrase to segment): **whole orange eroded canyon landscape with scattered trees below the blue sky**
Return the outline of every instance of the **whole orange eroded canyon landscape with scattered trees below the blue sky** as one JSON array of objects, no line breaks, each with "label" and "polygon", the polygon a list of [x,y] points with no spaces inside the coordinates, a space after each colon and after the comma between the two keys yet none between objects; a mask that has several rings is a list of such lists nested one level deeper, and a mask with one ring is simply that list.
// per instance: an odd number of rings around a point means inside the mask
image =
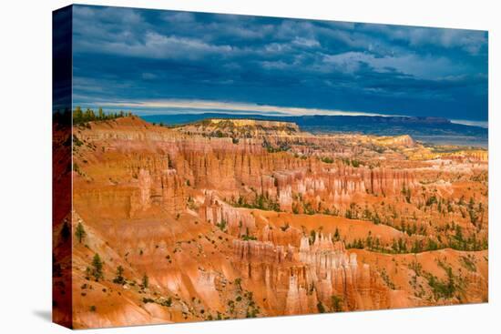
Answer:
[{"label": "whole orange eroded canyon landscape with scattered trees below the blue sky", "polygon": [[486,300],[481,161],[221,122],[74,127],[77,328]]}]

